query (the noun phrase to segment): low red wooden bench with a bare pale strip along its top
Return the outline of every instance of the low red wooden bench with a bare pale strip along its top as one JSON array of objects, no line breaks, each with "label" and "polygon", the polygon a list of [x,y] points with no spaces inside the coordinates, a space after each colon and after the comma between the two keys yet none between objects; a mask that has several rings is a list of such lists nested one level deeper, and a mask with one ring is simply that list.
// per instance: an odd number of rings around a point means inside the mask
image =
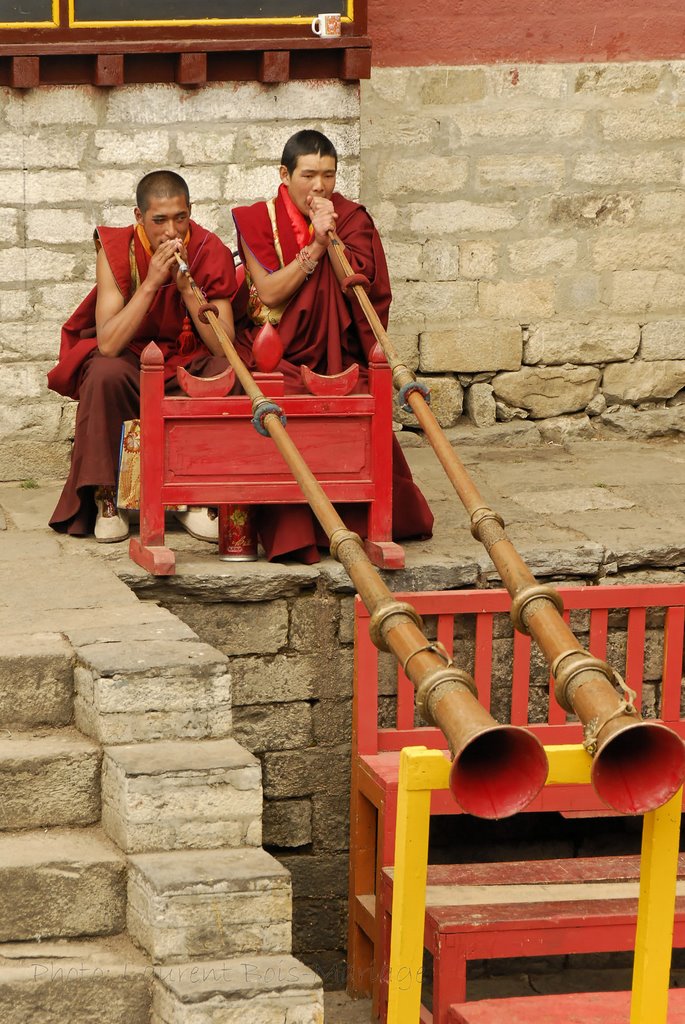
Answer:
[{"label": "low red wooden bench with a bare pale strip along its top", "polygon": [[[678,874],[685,878],[685,854]],[[422,1022],[448,1024],[451,1005],[466,999],[470,959],[634,949],[639,877],[639,856],[429,865],[424,944],[433,957],[433,1013],[422,1008]],[[382,886],[388,964],[392,868],[383,869]],[[685,945],[685,895],[676,905],[674,945]],[[381,1020],[386,1008],[383,977]]]}]

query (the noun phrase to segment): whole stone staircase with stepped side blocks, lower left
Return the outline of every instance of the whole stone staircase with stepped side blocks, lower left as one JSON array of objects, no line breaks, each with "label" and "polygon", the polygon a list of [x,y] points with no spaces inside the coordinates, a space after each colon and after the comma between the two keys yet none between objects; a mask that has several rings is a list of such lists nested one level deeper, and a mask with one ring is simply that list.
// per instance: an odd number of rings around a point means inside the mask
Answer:
[{"label": "whole stone staircase with stepped side blocks, lower left", "polygon": [[0,650],[0,1021],[322,1024],[226,658],[130,597]]}]

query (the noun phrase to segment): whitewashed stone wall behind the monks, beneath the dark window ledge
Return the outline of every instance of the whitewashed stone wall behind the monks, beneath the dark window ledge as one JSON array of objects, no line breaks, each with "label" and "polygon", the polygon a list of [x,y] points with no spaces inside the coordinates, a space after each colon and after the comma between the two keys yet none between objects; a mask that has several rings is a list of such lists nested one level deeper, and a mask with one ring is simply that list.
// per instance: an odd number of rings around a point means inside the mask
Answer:
[{"label": "whitewashed stone wall behind the monks, beneath the dark window ledge", "polygon": [[131,223],[160,167],[234,247],[230,207],[274,194],[283,143],[316,127],[359,188],[359,91],[340,83],[0,90],[0,479],[65,476],[76,404],[51,394],[59,328],[94,281],[96,224]]}]

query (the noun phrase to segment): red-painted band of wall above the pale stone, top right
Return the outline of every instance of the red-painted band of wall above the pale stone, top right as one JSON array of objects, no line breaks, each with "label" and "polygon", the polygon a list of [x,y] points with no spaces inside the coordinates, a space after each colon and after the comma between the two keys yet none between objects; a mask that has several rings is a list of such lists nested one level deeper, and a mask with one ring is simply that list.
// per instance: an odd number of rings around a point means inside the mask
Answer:
[{"label": "red-painted band of wall above the pale stone, top right", "polygon": [[369,0],[377,67],[685,57],[685,0]]}]

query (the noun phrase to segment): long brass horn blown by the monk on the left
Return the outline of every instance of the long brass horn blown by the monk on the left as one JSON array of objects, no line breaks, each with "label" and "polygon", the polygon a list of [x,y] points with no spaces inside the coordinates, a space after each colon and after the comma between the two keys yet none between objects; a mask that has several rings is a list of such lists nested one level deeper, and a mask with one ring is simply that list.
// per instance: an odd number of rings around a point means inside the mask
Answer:
[{"label": "long brass horn blown by the monk on the left", "polygon": [[[178,262],[196,298],[204,303],[187,266],[180,259]],[[486,818],[507,817],[522,810],[547,778],[542,743],[526,729],[496,722],[478,702],[473,679],[457,669],[437,645],[429,643],[421,616],[413,605],[397,601],[386,587],[367,557],[360,538],[345,526],[293,443],[280,411],[262,393],[216,315],[208,310],[206,316],[252,398],[253,409],[266,406],[261,423],[326,530],[331,554],[344,566],[369,609],[374,643],[394,654],[414,684],[424,719],[445,735],[453,756],[451,787],[461,807]]]}]

